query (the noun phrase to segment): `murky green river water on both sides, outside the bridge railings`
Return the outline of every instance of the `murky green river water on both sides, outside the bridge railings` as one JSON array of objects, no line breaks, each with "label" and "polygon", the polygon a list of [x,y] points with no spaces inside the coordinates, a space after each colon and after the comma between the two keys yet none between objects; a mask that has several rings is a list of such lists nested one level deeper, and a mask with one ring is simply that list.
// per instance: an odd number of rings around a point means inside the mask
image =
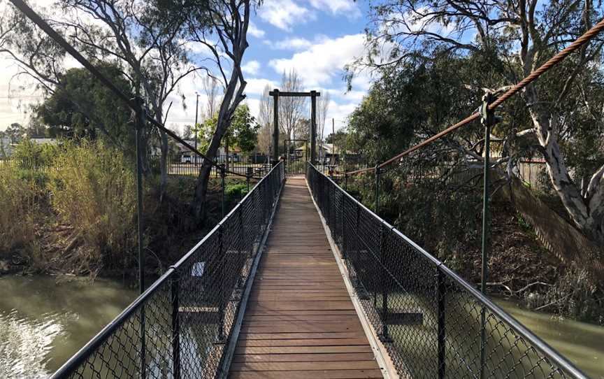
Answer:
[{"label": "murky green river water on both sides, outside the bridge railings", "polygon": [[[0,277],[0,378],[48,377],[137,293],[114,280]],[[591,378],[604,379],[604,327],[496,303]]]}]

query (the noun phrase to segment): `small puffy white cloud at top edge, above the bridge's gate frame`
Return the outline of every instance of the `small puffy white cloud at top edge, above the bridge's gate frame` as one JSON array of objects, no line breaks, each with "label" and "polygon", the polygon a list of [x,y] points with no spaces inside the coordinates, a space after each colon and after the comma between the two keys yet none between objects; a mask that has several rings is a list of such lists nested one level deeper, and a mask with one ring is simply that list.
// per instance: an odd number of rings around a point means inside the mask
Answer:
[{"label": "small puffy white cloud at top edge, above the bridge's gate frame", "polygon": [[274,27],[290,31],[296,23],[313,20],[315,14],[292,0],[266,0],[258,10],[260,18]]}]

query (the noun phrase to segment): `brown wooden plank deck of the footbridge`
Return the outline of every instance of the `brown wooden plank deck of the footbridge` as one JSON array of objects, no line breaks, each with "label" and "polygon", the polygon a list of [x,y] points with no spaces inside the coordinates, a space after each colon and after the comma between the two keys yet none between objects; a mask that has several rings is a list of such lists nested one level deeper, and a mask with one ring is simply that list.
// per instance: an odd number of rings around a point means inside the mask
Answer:
[{"label": "brown wooden plank deck of the footbridge", "polygon": [[303,178],[288,178],[229,378],[382,378]]}]

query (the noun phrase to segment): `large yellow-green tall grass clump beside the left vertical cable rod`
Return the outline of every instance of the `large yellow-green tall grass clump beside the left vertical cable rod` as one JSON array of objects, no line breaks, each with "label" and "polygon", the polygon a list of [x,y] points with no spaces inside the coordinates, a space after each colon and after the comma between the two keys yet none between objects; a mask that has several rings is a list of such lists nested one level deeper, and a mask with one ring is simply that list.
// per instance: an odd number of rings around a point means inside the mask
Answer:
[{"label": "large yellow-green tall grass clump beside the left vertical cable rod", "polygon": [[65,143],[54,159],[52,209],[78,238],[78,259],[90,271],[127,266],[136,242],[133,165],[101,141]]}]

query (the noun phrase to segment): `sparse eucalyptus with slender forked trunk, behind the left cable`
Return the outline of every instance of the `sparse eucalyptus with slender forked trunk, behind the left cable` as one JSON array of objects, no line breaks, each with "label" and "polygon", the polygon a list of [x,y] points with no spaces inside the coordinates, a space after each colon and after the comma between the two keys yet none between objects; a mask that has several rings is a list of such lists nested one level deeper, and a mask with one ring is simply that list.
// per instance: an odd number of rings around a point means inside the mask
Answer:
[{"label": "sparse eucalyptus with slender forked trunk, behind the left cable", "polygon": [[[180,82],[205,69],[189,59],[183,38],[188,14],[166,1],[57,0],[44,15],[94,64],[113,64],[120,69],[157,122],[165,122],[164,105],[168,96],[178,92]],[[18,10],[10,7],[10,15],[5,14],[3,21],[10,33],[4,36],[8,43],[0,52],[10,54],[24,72],[52,93],[66,70],[65,52]],[[73,101],[78,103],[78,99]],[[145,145],[153,134],[159,134],[163,194],[168,136],[164,131],[148,130],[143,134]]]}]

